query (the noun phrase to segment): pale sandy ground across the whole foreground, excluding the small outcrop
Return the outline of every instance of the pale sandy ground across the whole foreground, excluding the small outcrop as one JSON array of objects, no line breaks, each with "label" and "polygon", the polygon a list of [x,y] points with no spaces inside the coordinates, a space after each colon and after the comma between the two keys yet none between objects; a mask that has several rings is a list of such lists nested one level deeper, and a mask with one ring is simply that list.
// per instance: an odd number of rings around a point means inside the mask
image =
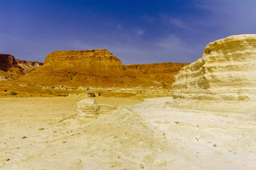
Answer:
[{"label": "pale sandy ground across the whole foreground, excluding the small outcrop", "polygon": [[0,169],[256,169],[253,114],[97,97],[123,107],[83,125],[82,98],[0,98]]}]

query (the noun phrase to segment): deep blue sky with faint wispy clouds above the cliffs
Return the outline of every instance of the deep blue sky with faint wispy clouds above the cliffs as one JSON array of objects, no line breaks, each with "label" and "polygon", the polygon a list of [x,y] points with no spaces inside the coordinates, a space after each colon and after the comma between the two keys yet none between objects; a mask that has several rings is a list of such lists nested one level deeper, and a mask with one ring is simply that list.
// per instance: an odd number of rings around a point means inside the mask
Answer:
[{"label": "deep blue sky with faint wispy clouds above the cliffs", "polygon": [[43,62],[107,49],[123,64],[194,62],[208,43],[256,33],[255,0],[0,0],[0,53]]}]

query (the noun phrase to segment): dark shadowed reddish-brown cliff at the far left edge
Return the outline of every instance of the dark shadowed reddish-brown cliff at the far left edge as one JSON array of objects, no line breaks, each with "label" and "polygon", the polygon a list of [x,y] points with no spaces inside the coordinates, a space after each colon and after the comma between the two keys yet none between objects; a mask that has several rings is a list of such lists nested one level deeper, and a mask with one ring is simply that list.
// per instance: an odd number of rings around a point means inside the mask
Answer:
[{"label": "dark shadowed reddish-brown cliff at the far left edge", "polygon": [[0,81],[18,79],[23,76],[23,72],[14,56],[0,54]]}]

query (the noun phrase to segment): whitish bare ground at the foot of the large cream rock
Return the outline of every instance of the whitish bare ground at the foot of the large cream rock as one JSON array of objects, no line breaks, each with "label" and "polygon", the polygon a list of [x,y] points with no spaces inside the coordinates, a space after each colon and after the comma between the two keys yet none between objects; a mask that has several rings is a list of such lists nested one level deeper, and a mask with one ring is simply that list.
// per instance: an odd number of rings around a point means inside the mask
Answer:
[{"label": "whitish bare ground at the foot of the large cream rock", "polygon": [[[152,129],[175,142],[159,169],[256,169],[256,121],[250,114],[184,111],[165,105],[172,98],[148,98],[130,106]],[[172,160],[171,160],[172,159]],[[156,159],[152,162],[156,162]]]}]

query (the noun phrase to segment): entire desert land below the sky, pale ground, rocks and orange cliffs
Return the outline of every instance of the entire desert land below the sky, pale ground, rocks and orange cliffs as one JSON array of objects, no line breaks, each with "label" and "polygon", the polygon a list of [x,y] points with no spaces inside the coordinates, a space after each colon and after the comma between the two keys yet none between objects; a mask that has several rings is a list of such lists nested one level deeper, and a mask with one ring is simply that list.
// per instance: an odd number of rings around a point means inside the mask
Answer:
[{"label": "entire desert land below the sky, pale ground, rocks and orange cliffs", "polygon": [[0,167],[256,169],[255,44],[216,40],[191,64],[126,66],[107,50],[43,64],[1,55]]}]

